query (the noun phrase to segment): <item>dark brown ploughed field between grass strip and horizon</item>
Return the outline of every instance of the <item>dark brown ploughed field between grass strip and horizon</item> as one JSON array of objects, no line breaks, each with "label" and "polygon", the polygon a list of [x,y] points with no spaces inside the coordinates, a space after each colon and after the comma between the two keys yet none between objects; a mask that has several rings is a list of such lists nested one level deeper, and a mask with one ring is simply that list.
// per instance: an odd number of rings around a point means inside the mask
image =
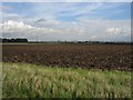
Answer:
[{"label": "dark brown ploughed field between grass strip and horizon", "polygon": [[2,44],[3,62],[50,67],[131,70],[130,44]]}]

